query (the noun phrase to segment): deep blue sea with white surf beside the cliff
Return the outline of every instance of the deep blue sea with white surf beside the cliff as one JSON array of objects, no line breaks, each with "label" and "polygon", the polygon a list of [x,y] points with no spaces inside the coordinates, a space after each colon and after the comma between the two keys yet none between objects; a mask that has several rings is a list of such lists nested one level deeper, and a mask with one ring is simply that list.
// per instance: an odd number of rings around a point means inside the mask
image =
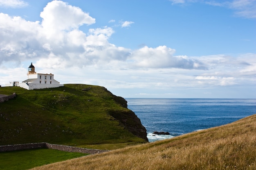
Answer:
[{"label": "deep blue sea with white surf beside the cliff", "polygon": [[[221,126],[256,114],[256,99],[126,98],[149,142]],[[154,135],[153,132],[170,135]]]}]

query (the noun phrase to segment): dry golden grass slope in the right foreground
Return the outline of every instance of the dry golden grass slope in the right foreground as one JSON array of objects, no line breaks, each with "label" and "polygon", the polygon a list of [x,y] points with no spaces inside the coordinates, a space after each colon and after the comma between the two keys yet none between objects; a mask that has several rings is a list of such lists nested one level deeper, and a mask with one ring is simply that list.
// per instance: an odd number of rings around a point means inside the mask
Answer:
[{"label": "dry golden grass slope in the right foreground", "polygon": [[232,124],[33,170],[255,170],[256,115]]}]

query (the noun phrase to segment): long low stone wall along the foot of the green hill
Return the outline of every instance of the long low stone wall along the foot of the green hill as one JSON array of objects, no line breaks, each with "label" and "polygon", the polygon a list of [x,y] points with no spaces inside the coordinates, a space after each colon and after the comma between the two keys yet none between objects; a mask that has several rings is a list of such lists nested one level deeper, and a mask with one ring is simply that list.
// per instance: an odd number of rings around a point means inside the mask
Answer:
[{"label": "long low stone wall along the foot of the green hill", "polygon": [[80,153],[87,153],[87,154],[97,154],[97,153],[109,151],[109,150],[77,148],[74,146],[48,144],[43,142],[43,143],[34,143],[34,144],[4,145],[4,146],[0,146],[0,152],[25,150],[25,149],[37,149],[37,148],[49,148],[49,149],[61,150],[65,152],[80,152]]}]

